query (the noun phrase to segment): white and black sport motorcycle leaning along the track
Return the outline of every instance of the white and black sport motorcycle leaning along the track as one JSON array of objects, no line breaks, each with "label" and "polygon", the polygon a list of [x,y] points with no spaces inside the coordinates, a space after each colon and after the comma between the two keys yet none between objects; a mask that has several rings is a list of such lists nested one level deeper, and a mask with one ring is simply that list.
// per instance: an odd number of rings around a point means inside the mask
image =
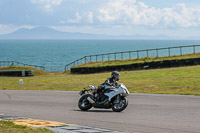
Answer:
[{"label": "white and black sport motorcycle leaning along the track", "polygon": [[121,83],[118,87],[104,85],[104,89],[97,92],[97,88],[89,85],[90,89],[80,91],[81,98],[78,101],[78,107],[82,111],[94,108],[110,109],[114,112],[121,112],[128,106],[127,96],[129,91]]}]

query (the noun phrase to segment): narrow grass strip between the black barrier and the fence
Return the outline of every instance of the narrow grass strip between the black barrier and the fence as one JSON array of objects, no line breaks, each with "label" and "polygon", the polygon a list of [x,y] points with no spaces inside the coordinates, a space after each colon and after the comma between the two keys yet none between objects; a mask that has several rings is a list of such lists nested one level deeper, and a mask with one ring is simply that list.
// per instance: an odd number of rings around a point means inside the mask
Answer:
[{"label": "narrow grass strip between the black barrier and the fence", "polygon": [[104,66],[116,66],[116,65],[128,65],[133,63],[145,63],[145,62],[153,62],[153,61],[163,61],[163,60],[179,60],[179,59],[189,59],[189,58],[200,58],[200,53],[196,54],[184,54],[182,56],[165,56],[165,57],[144,57],[144,58],[135,58],[135,59],[125,59],[125,60],[110,60],[103,62],[90,62],[78,66],[74,66],[73,68],[79,67],[104,67]]}]

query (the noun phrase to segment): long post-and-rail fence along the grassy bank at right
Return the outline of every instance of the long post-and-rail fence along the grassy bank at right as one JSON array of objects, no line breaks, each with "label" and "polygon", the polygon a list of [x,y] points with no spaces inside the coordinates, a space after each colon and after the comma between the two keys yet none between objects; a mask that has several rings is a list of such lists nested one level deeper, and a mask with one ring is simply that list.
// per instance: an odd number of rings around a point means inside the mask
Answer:
[{"label": "long post-and-rail fence along the grassy bank at right", "polygon": [[[157,48],[157,49],[146,49],[146,50],[136,50],[136,51],[125,51],[125,52],[115,52],[115,53],[106,53],[106,54],[97,54],[97,55],[89,55],[84,56],[78,60],[75,60],[65,66],[65,71],[69,70],[73,66],[89,63],[89,62],[103,62],[108,60],[124,60],[124,59],[133,59],[133,58],[142,58],[142,57],[161,57],[161,56],[172,56],[172,55],[183,55],[185,54],[184,50],[185,48],[192,48],[190,50],[191,52],[188,53],[196,53],[197,47],[200,47],[200,45],[189,45],[189,46],[178,46],[178,47],[167,47],[167,48]],[[172,51],[173,49],[176,49],[176,52]],[[161,54],[161,50],[166,50],[164,55]],[[178,50],[178,51],[177,51]],[[200,50],[199,50],[200,51]],[[142,53],[142,54],[141,54]],[[153,56],[151,56],[151,54]]]}]

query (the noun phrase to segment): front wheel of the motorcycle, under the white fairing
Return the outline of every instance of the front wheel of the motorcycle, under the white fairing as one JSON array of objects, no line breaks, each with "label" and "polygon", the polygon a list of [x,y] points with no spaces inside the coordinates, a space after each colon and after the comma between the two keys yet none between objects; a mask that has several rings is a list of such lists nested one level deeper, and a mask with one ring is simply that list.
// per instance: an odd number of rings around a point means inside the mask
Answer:
[{"label": "front wheel of the motorcycle, under the white fairing", "polygon": [[128,106],[128,99],[126,97],[121,97],[119,101],[114,100],[112,103],[112,110],[114,112],[121,112]]}]

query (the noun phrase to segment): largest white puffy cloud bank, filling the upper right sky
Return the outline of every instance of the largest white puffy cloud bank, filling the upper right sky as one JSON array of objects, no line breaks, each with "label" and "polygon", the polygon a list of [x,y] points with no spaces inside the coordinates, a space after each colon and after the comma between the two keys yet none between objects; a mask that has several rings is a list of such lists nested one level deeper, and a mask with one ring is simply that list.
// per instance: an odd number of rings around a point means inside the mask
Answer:
[{"label": "largest white puffy cloud bank, filling the upper right sky", "polygon": [[136,0],[109,0],[98,12],[97,19],[106,24],[183,28],[200,25],[200,9],[188,8],[184,3],[155,8]]}]

